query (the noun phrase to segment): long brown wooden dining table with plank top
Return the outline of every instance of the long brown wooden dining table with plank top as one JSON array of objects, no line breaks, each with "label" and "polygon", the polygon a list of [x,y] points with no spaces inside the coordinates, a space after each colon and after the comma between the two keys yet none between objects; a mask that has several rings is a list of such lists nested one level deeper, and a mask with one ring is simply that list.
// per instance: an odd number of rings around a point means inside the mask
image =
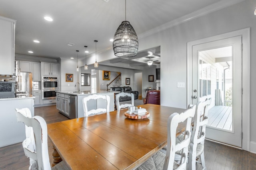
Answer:
[{"label": "long brown wooden dining table with plank top", "polygon": [[[73,170],[134,169],[167,144],[167,119],[185,109],[145,104],[150,116],[130,119],[128,109],[48,124],[54,161]],[[176,136],[184,131],[179,124]],[[60,156],[60,157],[59,157]]]}]

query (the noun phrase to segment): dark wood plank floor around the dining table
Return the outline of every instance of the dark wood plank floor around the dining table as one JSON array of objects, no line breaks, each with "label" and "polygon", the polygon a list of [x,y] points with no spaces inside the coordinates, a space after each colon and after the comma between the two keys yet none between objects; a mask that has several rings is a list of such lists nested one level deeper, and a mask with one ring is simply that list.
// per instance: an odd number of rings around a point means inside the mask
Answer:
[{"label": "dark wood plank floor around the dining table", "polygon": [[[44,117],[46,123],[64,121],[68,118],[58,113],[56,106],[36,107],[35,115]],[[48,140],[50,162],[52,145]],[[256,154],[235,149],[212,141],[205,141],[205,160],[208,170],[256,170]],[[28,170],[29,159],[22,149],[22,143],[0,148],[0,170]],[[197,169],[202,168],[197,165]]]}]

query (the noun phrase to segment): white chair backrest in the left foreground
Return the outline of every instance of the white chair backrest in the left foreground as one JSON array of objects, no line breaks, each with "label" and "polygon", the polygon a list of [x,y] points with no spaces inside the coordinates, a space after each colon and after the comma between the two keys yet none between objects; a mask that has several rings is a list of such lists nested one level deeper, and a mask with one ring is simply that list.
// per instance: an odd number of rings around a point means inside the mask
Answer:
[{"label": "white chair backrest in the left foreground", "polygon": [[29,169],[50,170],[47,125],[40,116],[31,116],[30,109],[16,109],[18,122],[25,124],[26,139],[22,142],[25,155],[30,158]]}]

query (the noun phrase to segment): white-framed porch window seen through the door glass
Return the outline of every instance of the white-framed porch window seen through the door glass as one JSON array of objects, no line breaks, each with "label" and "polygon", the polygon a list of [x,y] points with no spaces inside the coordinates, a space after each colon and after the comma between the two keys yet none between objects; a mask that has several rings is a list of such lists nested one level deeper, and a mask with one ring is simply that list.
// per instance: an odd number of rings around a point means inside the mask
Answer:
[{"label": "white-framed porch window seen through the door glass", "polygon": [[199,96],[211,94],[211,64],[199,60]]}]

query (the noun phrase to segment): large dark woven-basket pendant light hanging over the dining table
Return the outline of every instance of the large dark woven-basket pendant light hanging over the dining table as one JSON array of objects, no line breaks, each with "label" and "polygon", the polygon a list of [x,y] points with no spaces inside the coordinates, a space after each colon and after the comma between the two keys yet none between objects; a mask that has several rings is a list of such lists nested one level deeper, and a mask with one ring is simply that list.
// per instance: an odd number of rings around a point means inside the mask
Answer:
[{"label": "large dark woven-basket pendant light hanging over the dining table", "polygon": [[125,0],[125,21],[119,25],[113,39],[113,50],[117,57],[134,57],[138,53],[138,37],[129,21],[126,21],[126,0]]}]

